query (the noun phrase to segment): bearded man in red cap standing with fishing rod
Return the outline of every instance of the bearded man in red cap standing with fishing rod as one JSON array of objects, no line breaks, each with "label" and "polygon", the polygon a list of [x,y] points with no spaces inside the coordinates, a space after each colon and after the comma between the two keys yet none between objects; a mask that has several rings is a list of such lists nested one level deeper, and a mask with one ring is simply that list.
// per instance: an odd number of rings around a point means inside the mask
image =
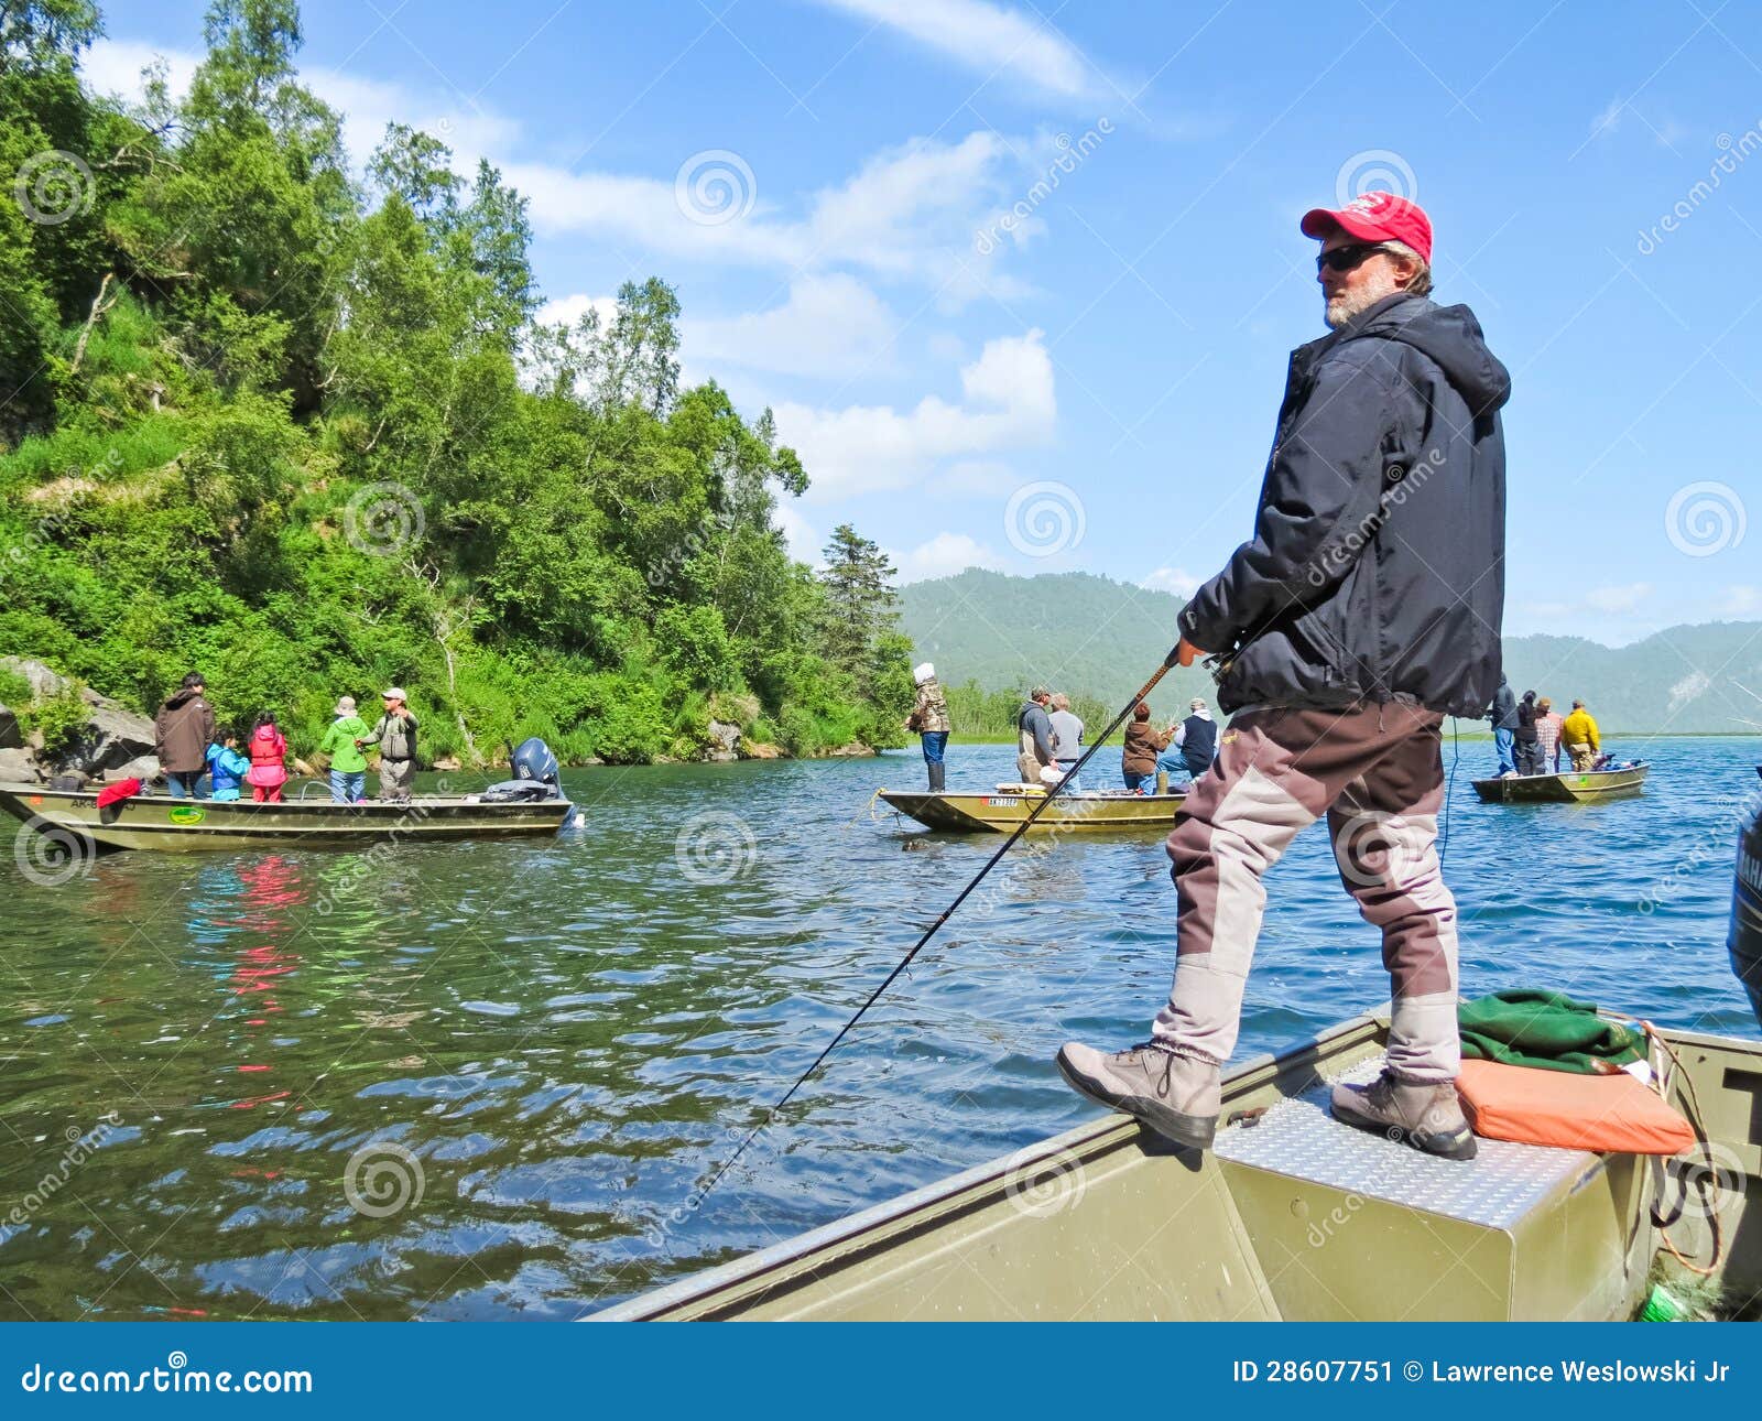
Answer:
[{"label": "bearded man in red cap standing with fishing rod", "polygon": [[1232,719],[1168,836],[1173,986],[1145,1044],[1071,1042],[1059,1068],[1209,1148],[1262,874],[1325,815],[1394,998],[1383,1072],[1336,1086],[1334,1116],[1466,1160],[1440,728],[1485,714],[1499,684],[1510,376],[1468,307],[1431,301],[1433,229],[1415,203],[1367,192],[1309,212],[1302,231],[1320,242],[1329,333],[1292,354],[1253,536],[1179,619],[1177,661],[1218,656]]}]

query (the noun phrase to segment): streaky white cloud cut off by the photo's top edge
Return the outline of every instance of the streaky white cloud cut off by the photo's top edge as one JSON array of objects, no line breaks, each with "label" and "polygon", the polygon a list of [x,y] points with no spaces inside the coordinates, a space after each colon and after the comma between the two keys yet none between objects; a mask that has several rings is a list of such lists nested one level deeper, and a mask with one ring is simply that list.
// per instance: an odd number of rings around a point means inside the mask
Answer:
[{"label": "streaky white cloud cut off by the photo's top edge", "polygon": [[1084,53],[1038,14],[987,0],[821,0],[939,49],[983,76],[1010,72],[1068,99],[1098,92]]}]

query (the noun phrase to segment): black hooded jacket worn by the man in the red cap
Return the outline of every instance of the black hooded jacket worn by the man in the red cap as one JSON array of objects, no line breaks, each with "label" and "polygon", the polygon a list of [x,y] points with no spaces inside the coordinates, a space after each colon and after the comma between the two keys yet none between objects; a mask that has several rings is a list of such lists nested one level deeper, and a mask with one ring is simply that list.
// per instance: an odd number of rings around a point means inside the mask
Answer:
[{"label": "black hooded jacket worn by the man in the red cap", "polygon": [[1468,307],[1397,294],[1292,353],[1255,536],[1181,612],[1225,710],[1499,684],[1510,376]]}]

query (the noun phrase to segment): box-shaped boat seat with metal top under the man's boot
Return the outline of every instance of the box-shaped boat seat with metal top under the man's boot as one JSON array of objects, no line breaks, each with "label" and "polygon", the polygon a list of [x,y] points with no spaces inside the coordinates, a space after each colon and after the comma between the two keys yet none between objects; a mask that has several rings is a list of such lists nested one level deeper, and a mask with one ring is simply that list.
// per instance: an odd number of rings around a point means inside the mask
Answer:
[{"label": "box-shaped boat seat with metal top under the man's boot", "polygon": [[[1367,1082],[1381,1056],[1343,1075]],[[1480,1141],[1440,1160],[1327,1111],[1314,1081],[1219,1130],[1216,1158],[1286,1321],[1609,1319],[1644,1292],[1630,1155]]]}]

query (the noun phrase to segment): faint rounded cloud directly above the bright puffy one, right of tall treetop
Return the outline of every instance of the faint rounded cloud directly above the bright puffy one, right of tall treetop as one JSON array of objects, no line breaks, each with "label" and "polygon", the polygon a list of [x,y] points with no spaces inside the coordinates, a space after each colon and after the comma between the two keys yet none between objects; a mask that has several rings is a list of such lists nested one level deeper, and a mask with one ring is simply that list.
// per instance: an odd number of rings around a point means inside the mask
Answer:
[{"label": "faint rounded cloud directly above the bright puffy one, right of tall treetop", "polygon": [[856,277],[798,277],[789,298],[747,316],[682,323],[682,346],[694,363],[742,365],[784,376],[848,379],[888,374],[899,321]]}]

